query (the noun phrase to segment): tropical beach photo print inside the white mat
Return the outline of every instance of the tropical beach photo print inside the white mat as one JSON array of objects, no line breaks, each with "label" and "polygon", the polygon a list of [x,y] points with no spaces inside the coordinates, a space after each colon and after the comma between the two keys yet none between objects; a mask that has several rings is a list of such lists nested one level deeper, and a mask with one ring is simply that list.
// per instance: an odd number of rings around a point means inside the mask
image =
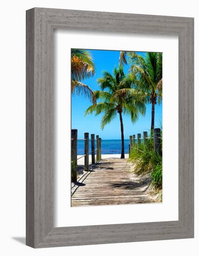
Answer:
[{"label": "tropical beach photo print inside the white mat", "polygon": [[162,81],[162,53],[71,49],[72,207],[162,202]]}]

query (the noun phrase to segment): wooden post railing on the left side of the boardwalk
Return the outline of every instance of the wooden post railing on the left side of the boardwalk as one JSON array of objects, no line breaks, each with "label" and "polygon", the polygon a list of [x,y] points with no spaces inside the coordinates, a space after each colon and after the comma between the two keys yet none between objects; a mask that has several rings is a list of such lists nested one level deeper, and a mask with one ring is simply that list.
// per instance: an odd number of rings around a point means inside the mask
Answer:
[{"label": "wooden post railing on the left side of the boardwalk", "polygon": [[[78,141],[84,141],[84,155],[77,157]],[[101,159],[101,138],[96,135],[97,148],[96,148],[96,161]],[[84,139],[78,139],[78,130],[71,130],[71,172],[72,182],[77,182],[77,161],[84,157],[84,169],[89,171],[89,133],[84,133]],[[91,158],[92,164],[95,163],[95,135],[91,134]]]}]

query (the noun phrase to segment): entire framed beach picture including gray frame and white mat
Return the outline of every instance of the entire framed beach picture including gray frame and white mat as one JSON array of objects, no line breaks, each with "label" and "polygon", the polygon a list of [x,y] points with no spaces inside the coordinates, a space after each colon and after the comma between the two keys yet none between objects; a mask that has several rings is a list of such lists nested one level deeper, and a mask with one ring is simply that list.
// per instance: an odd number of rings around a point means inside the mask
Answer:
[{"label": "entire framed beach picture including gray frame and white mat", "polygon": [[27,10],[27,245],[194,236],[193,18]]}]

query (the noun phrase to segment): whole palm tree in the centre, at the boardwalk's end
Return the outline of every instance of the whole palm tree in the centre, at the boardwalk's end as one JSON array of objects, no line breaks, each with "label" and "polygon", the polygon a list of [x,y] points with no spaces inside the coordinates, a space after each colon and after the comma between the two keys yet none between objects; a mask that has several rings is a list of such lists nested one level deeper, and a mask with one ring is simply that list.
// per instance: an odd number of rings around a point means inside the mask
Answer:
[{"label": "whole palm tree in the centre, at the boardwalk's end", "polygon": [[106,124],[110,123],[117,114],[119,114],[121,129],[121,158],[125,158],[124,154],[124,126],[122,115],[131,115],[131,121],[135,122],[139,114],[145,115],[145,103],[143,95],[132,89],[132,79],[123,72],[123,68],[119,66],[114,68],[113,75],[104,71],[102,78],[98,80],[101,91],[94,91],[96,100],[100,100],[96,104],[87,108],[85,115],[95,115],[103,113],[101,119],[101,128],[104,129]]}]

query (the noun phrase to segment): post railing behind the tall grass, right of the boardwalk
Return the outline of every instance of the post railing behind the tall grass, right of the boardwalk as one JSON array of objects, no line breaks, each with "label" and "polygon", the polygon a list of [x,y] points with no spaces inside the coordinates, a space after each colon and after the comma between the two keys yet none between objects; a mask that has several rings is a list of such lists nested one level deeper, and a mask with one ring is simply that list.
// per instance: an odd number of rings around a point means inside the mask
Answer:
[{"label": "post railing behind the tall grass, right of the boardwalk", "polygon": [[160,155],[161,154],[161,134],[160,134],[160,131],[161,131],[160,128],[155,128],[153,130],[153,137],[148,137],[147,132],[143,132],[143,137],[141,138],[141,134],[138,133],[137,134],[137,144],[136,144],[135,135],[130,135],[129,136],[129,140],[130,140],[129,154],[130,154],[131,149],[134,148],[135,146],[139,150],[141,139],[143,139],[144,144],[146,144],[148,139],[153,139],[154,152]]}]

